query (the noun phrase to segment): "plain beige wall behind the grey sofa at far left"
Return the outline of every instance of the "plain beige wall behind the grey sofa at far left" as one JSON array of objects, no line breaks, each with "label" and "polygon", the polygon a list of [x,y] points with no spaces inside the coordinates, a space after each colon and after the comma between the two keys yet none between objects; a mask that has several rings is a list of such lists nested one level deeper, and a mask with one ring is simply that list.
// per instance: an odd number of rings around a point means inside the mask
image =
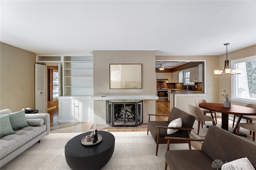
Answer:
[{"label": "plain beige wall behind the grey sofa at far left", "polygon": [[36,54],[2,42],[0,48],[0,110],[34,108]]}]

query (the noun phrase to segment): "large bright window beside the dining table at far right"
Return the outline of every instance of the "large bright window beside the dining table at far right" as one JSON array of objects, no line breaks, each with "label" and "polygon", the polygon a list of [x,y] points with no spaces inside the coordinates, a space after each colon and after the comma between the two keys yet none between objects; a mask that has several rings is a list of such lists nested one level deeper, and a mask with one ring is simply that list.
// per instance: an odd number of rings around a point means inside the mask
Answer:
[{"label": "large bright window beside the dining table at far right", "polygon": [[241,68],[241,74],[232,77],[232,100],[256,102],[256,56],[232,60],[234,69]]}]

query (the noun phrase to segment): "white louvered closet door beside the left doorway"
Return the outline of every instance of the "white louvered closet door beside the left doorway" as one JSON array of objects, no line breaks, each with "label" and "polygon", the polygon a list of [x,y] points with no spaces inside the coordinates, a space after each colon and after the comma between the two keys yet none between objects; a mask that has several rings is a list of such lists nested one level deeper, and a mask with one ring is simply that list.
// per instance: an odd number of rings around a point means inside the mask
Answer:
[{"label": "white louvered closet door beside the left doorway", "polygon": [[46,112],[46,66],[35,64],[35,109]]}]

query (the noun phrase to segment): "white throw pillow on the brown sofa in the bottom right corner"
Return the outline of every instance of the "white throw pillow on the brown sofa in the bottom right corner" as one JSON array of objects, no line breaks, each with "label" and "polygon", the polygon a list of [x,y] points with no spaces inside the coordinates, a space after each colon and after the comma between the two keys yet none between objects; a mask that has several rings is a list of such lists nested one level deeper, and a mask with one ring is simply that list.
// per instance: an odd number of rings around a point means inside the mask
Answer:
[{"label": "white throw pillow on the brown sofa in the bottom right corner", "polygon": [[247,157],[233,160],[222,165],[221,170],[255,170]]}]

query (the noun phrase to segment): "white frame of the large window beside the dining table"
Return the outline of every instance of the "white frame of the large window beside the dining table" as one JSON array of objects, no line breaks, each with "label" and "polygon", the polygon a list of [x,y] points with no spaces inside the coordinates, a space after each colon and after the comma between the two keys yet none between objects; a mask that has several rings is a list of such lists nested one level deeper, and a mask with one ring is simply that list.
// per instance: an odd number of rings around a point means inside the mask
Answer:
[{"label": "white frame of the large window beside the dining table", "polygon": [[[256,60],[256,56],[250,56],[250,57],[245,57],[245,58],[239,58],[236,60],[232,60],[231,61],[231,66],[233,69],[236,69],[236,64],[240,63],[240,62],[247,62],[247,61],[252,61],[252,60]],[[241,70],[241,72],[243,72],[245,70]],[[236,80],[237,80],[237,74],[234,74],[231,77],[231,100],[232,101],[236,101],[236,102],[243,102],[243,103],[255,103],[256,100],[252,100],[252,99],[245,99],[245,98],[236,98],[235,94],[236,94]]]}]

